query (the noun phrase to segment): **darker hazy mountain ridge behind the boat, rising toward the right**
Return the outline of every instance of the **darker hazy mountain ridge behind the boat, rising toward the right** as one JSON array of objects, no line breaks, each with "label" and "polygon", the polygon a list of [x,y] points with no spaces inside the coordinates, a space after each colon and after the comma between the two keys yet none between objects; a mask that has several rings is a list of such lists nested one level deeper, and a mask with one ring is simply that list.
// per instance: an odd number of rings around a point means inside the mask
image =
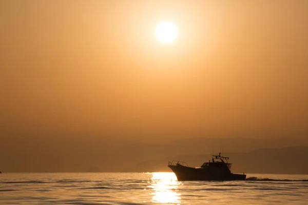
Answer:
[{"label": "darker hazy mountain ridge behind the boat, rising toward the right", "polygon": [[[264,148],[242,153],[227,152],[224,155],[230,157],[229,162],[233,163],[232,171],[235,173],[308,174],[307,146]],[[211,154],[165,157],[138,163],[133,171],[170,171],[167,167],[169,160],[185,161],[191,167],[200,167],[209,159],[211,159]]]}]

